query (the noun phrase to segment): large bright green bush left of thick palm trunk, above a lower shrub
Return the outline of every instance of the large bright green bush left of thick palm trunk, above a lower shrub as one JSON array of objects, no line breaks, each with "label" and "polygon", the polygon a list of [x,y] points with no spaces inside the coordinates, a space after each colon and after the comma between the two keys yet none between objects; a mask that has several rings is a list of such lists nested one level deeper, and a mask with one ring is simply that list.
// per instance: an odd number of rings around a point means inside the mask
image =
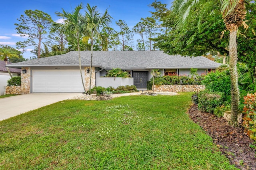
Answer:
[{"label": "large bright green bush left of thick palm trunk, above a lower shrub", "polygon": [[230,95],[230,74],[228,71],[210,72],[202,80],[202,84],[205,85],[206,89],[210,92],[223,92],[226,96]]}]

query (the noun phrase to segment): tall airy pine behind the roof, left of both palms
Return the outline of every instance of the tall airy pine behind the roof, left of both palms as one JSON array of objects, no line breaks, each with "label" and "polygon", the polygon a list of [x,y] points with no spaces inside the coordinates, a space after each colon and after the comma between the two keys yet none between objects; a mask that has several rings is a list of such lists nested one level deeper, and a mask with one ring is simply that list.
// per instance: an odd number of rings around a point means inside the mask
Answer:
[{"label": "tall airy pine behind the roof, left of both palms", "polygon": [[26,10],[25,15],[21,15],[19,19],[20,23],[15,23],[17,33],[21,36],[28,36],[28,39],[23,42],[17,42],[18,48],[34,46],[37,47],[37,58],[40,58],[41,43],[43,39],[47,39],[47,33],[52,25],[52,18],[50,15],[40,10]]}]

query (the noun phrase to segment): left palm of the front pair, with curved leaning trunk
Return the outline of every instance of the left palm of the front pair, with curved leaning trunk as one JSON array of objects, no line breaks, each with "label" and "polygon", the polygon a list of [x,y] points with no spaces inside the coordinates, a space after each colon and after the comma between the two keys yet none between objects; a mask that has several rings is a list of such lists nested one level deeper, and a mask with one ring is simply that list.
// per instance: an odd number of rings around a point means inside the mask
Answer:
[{"label": "left palm of the front pair, with curved leaning trunk", "polygon": [[87,94],[85,86],[84,86],[84,79],[83,79],[83,75],[82,75],[82,66],[81,66],[81,56],[80,56],[80,45],[79,45],[79,36],[80,36],[80,32],[81,32],[81,14],[79,13],[80,10],[84,8],[83,4],[79,4],[78,6],[76,6],[74,12],[69,13],[64,11],[64,9],[62,9],[62,13],[61,12],[55,12],[55,14],[59,17],[62,17],[64,20],[64,23],[56,23],[54,22],[52,24],[52,31],[57,31],[59,29],[59,31],[61,33],[65,33],[65,34],[76,34],[76,39],[77,39],[77,47],[78,47],[78,58],[79,58],[79,69],[80,69],[80,74],[81,74],[81,79],[82,79],[82,85],[84,88],[84,92]]}]

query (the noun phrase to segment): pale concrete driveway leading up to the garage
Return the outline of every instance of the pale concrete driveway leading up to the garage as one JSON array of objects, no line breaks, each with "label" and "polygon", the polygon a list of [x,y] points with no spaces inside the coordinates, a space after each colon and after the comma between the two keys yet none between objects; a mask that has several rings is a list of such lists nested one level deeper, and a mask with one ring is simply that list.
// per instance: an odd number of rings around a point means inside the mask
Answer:
[{"label": "pale concrete driveway leading up to the garage", "polygon": [[31,93],[0,98],[0,121],[81,93]]}]

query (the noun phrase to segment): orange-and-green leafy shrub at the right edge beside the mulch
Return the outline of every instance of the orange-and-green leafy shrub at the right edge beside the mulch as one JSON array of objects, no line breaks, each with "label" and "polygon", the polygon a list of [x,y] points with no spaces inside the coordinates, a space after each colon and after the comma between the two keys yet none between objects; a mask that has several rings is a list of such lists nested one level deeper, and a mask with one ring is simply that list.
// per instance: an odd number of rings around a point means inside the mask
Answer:
[{"label": "orange-and-green leafy shrub at the right edge beside the mulch", "polygon": [[244,96],[243,126],[247,135],[256,141],[256,93]]}]

